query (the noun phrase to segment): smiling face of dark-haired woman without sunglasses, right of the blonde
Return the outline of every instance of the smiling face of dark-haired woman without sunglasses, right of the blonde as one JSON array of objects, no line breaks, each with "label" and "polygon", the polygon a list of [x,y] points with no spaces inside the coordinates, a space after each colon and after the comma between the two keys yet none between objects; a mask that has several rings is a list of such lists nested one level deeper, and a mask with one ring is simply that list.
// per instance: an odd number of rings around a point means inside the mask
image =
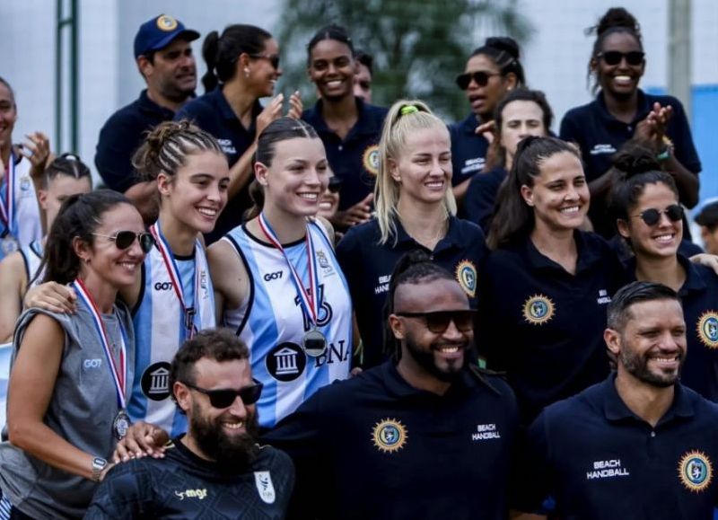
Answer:
[{"label": "smiling face of dark-haired woman without sunglasses, right of the blonde", "polygon": [[573,231],[589,209],[589,187],[581,160],[559,152],[542,160],[533,186],[521,186],[521,197],[533,207],[537,231]]}]

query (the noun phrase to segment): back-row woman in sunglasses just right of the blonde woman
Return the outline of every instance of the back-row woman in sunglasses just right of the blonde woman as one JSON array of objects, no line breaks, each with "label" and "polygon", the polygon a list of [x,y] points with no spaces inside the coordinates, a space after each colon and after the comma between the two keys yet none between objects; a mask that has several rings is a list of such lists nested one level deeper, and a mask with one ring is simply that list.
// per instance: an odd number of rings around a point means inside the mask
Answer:
[{"label": "back-row woman in sunglasses just right of the blonde woman", "polygon": [[[496,105],[506,93],[525,84],[518,44],[508,37],[487,38],[468,57],[466,69],[457,76],[456,84],[466,92],[471,105],[467,119],[449,126],[454,172],[451,184],[455,198],[461,201],[468,181],[486,164],[489,141],[484,133],[477,133],[477,128],[494,119]],[[490,133],[490,128],[486,131]]]}]

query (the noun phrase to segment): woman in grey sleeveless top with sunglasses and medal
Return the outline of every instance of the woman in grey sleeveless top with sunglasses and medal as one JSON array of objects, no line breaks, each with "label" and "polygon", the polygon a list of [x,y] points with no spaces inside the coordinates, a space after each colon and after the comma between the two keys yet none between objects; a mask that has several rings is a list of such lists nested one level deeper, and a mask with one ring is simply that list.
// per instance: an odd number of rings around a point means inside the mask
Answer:
[{"label": "woman in grey sleeveless top with sunglasses and medal", "polygon": [[0,508],[12,517],[79,518],[127,433],[135,334],[118,291],[152,247],[123,195],[67,198],[48,233],[44,279],[70,284],[77,313],[32,308],[14,336],[0,444]]}]

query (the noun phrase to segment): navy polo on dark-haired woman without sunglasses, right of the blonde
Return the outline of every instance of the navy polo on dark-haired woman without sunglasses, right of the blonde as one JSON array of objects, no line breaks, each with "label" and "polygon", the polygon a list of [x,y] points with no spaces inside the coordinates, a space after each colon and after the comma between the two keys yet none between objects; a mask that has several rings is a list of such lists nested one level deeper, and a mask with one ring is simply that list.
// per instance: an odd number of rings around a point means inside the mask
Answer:
[{"label": "navy polo on dark-haired woman without sunglasses, right of the blonde", "polygon": [[480,269],[478,353],[487,368],[506,371],[524,424],[609,373],[606,308],[624,269],[600,236],[577,231],[574,238],[574,275],[529,237],[492,251]]}]

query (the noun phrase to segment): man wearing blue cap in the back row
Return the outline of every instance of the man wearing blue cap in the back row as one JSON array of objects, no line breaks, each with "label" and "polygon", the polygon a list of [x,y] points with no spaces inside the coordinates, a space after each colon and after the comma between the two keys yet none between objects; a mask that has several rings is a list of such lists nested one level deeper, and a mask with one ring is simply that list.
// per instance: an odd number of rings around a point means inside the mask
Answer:
[{"label": "man wearing blue cap in the back row", "polygon": [[153,182],[140,182],[132,167],[132,154],[144,132],[169,121],[197,87],[197,68],[190,42],[199,33],[187,29],[169,14],[144,22],[135,37],[135,59],[147,88],[139,99],[121,108],[100,131],[95,165],[108,188],[125,193],[145,221],[156,216]]}]

